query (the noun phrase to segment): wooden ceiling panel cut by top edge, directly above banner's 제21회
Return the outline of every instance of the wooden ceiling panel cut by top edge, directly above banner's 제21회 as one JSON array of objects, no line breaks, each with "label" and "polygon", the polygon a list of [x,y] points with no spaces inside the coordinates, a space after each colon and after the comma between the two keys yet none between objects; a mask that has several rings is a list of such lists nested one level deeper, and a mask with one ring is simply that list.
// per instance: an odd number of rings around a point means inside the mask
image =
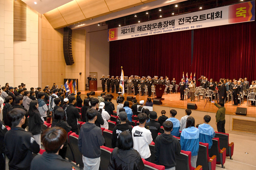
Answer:
[{"label": "wooden ceiling panel cut by top edge, directly above banner's \uc81c21\ud68c", "polygon": [[112,12],[124,10],[132,6],[142,5],[140,0],[105,0],[108,8]]}]

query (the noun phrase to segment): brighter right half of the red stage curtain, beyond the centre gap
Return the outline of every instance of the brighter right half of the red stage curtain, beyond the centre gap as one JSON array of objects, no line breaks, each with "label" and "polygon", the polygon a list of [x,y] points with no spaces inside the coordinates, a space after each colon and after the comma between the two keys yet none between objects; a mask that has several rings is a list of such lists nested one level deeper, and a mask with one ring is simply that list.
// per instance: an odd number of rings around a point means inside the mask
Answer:
[{"label": "brighter right half of the red stage curtain, beyond the centre gap", "polygon": [[192,70],[197,77],[256,79],[256,22],[194,30]]}]

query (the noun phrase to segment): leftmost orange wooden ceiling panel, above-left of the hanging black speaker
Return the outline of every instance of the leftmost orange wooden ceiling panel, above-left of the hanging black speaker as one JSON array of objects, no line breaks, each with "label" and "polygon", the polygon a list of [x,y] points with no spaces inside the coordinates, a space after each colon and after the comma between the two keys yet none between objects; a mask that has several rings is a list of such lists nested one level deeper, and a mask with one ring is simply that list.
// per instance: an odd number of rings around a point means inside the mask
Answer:
[{"label": "leftmost orange wooden ceiling panel, above-left of the hanging black speaker", "polygon": [[55,8],[52,11],[44,13],[44,16],[49,21],[49,23],[52,25],[53,28],[59,28],[62,26],[67,25],[66,21],[60,14],[59,10]]}]

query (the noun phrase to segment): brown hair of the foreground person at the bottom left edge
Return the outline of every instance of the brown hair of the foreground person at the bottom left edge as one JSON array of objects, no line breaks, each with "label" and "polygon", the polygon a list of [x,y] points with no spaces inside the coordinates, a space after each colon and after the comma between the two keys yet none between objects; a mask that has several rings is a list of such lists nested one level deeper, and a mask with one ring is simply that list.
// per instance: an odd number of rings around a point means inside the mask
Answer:
[{"label": "brown hair of the foreground person at the bottom left edge", "polygon": [[42,135],[42,143],[47,153],[57,153],[66,141],[68,133],[61,127],[47,128]]}]

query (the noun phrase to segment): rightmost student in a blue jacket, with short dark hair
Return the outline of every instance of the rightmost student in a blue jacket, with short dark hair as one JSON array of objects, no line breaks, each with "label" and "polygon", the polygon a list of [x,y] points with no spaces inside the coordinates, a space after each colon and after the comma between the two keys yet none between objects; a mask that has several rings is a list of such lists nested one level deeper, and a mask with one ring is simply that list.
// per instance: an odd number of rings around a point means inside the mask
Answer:
[{"label": "rightmost student in a blue jacket, with short dark hair", "polygon": [[209,115],[204,116],[204,124],[198,126],[199,130],[199,142],[209,143],[208,153],[210,155],[210,148],[212,147],[212,138],[215,137],[215,132],[212,126],[209,125],[211,117]]}]

